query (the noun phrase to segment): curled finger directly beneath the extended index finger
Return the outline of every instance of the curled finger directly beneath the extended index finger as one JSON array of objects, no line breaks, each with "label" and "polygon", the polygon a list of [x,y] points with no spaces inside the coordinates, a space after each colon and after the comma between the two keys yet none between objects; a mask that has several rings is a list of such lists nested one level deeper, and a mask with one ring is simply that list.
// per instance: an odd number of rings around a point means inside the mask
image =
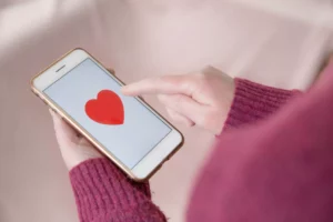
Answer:
[{"label": "curled finger directly beneath the extended index finger", "polygon": [[188,118],[198,125],[204,124],[204,117],[208,107],[198,103],[190,97],[183,94],[160,94],[159,100],[169,109],[174,110],[180,115]]}]

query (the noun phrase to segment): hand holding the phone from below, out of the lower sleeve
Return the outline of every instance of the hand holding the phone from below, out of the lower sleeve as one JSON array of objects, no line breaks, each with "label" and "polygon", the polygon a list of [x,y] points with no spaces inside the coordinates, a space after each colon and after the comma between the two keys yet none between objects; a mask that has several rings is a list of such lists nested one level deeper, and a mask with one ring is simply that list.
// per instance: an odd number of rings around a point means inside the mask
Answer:
[{"label": "hand holding the phone from below, out of the lower sleeve", "polygon": [[68,170],[73,169],[85,160],[103,157],[88,140],[64,122],[60,115],[51,110],[50,112],[61,155]]}]

